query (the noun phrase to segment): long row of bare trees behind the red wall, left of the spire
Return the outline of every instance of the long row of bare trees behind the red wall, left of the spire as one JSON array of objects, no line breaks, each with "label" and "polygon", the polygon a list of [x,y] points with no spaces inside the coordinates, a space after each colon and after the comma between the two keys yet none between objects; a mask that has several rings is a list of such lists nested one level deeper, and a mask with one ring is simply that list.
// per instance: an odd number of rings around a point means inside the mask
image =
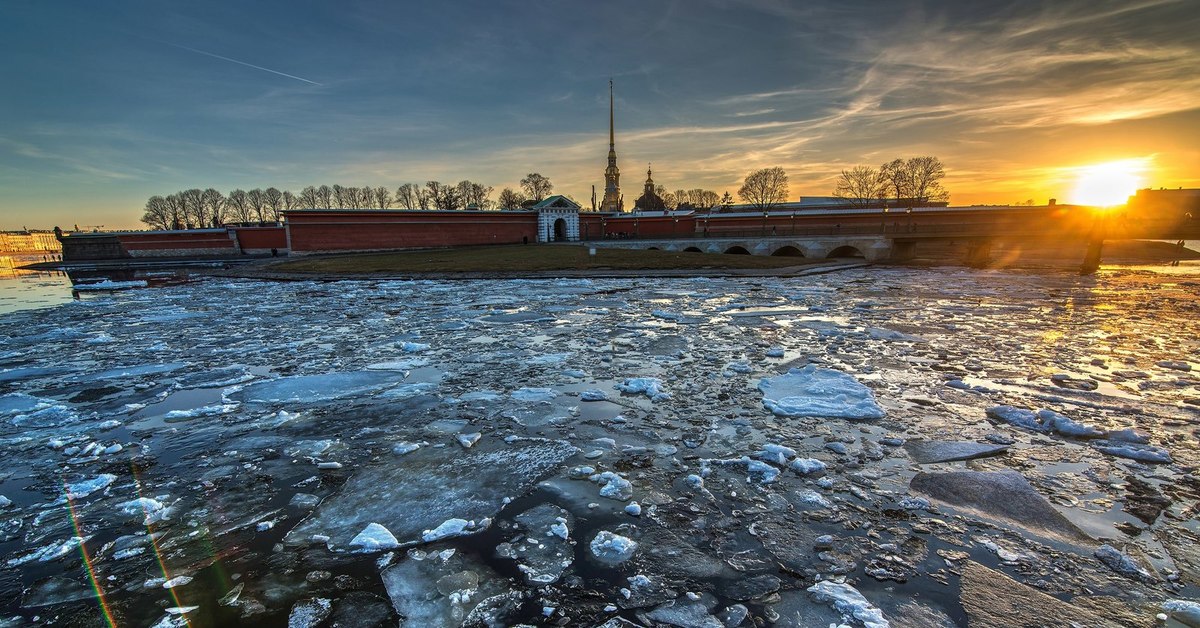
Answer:
[{"label": "long row of bare trees behind the red wall, left of the spire", "polygon": [[227,223],[278,222],[293,209],[522,209],[550,196],[554,186],[548,178],[529,173],[521,189],[505,187],[492,201],[493,187],[462,180],[457,184],[426,181],[403,184],[392,192],[384,186],[350,187],[342,185],[306,186],[299,193],[266,190],[191,189],[146,201],[142,222],[157,229],[221,227]]}]

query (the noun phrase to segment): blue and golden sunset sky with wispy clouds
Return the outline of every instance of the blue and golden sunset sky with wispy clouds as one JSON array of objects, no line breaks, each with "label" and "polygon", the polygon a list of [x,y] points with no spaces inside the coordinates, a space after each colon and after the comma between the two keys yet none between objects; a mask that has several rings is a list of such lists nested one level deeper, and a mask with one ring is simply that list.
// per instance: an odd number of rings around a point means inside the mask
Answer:
[{"label": "blue and golden sunset sky with wispy clouds", "polygon": [[136,228],[190,187],[541,173],[790,196],[935,155],[952,204],[1200,187],[1195,0],[0,1],[0,229]]}]

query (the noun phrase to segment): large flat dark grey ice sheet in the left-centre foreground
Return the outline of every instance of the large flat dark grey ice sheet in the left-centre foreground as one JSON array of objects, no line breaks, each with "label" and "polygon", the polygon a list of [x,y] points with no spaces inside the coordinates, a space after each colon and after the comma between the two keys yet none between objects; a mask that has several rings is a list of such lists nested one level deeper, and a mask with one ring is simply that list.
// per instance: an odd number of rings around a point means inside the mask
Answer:
[{"label": "large flat dark grey ice sheet in the left-centre foreground", "polygon": [[454,456],[431,447],[389,456],[359,469],[284,540],[307,544],[314,536],[328,537],[330,548],[344,550],[377,522],[401,544],[419,543],[425,531],[451,519],[494,516],[505,498],[524,495],[575,453],[562,441],[522,439],[494,449],[460,449]]}]

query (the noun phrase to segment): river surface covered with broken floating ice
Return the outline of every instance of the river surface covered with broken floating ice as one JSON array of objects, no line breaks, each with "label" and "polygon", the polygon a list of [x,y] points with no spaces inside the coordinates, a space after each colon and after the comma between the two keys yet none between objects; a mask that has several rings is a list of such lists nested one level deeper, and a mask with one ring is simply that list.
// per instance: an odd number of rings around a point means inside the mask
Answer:
[{"label": "river surface covered with broken floating ice", "polygon": [[8,313],[0,618],[95,624],[91,576],[121,626],[962,626],[1007,579],[1189,621],[1196,294],[866,269]]}]

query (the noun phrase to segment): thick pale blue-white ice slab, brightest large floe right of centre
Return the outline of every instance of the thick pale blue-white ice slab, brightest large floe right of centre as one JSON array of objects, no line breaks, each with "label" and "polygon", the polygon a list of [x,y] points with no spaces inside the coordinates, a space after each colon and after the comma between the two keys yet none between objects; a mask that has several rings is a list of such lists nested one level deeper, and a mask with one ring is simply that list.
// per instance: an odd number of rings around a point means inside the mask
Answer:
[{"label": "thick pale blue-white ice slab, brightest large floe right of centre", "polygon": [[881,419],[883,408],[853,376],[808,365],[758,383],[763,406],[779,417]]}]

